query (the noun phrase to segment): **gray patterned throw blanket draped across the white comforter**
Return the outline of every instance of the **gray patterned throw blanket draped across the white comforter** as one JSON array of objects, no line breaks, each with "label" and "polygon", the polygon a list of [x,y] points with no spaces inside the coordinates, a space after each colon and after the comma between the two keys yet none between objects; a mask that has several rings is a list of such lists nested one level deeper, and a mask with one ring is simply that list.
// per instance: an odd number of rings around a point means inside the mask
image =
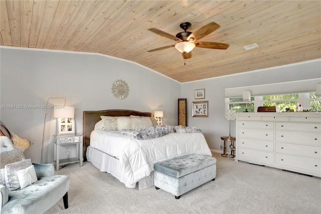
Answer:
[{"label": "gray patterned throw blanket draped across the white comforter", "polygon": [[137,140],[147,140],[152,138],[158,138],[170,133],[199,133],[201,129],[196,127],[186,126],[153,126],[146,129],[122,129],[121,133],[128,137],[132,137]]}]

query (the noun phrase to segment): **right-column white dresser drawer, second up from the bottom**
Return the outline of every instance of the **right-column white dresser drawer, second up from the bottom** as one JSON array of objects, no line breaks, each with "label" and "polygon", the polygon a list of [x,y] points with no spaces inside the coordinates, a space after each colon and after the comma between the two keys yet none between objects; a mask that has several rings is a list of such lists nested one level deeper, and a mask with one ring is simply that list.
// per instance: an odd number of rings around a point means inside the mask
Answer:
[{"label": "right-column white dresser drawer, second up from the bottom", "polygon": [[275,142],[275,152],[321,159],[321,147]]}]

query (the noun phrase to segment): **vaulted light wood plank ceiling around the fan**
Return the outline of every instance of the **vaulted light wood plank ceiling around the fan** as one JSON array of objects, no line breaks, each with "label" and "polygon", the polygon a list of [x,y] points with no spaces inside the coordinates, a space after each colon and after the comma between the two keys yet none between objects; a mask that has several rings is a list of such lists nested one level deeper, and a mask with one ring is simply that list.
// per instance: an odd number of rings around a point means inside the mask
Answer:
[{"label": "vaulted light wood plank ceiling around the fan", "polygon": [[[321,1],[1,1],[1,45],[94,52],[130,60],[180,82],[321,58]],[[227,50],[195,48],[185,60],[176,35],[216,22],[201,41]],[[258,48],[245,50],[253,43]],[[114,72],[114,71],[108,71]]]}]

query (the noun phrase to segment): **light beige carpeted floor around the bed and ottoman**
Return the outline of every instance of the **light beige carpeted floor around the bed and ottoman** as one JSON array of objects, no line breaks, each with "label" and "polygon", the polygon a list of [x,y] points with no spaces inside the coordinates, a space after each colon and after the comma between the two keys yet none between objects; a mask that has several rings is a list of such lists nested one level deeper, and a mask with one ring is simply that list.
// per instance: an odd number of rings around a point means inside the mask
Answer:
[{"label": "light beige carpeted floor around the bed and ottoman", "polygon": [[321,178],[217,158],[217,176],[180,199],[161,189],[126,188],[91,163],[69,164],[69,208],[45,213],[321,213]]}]

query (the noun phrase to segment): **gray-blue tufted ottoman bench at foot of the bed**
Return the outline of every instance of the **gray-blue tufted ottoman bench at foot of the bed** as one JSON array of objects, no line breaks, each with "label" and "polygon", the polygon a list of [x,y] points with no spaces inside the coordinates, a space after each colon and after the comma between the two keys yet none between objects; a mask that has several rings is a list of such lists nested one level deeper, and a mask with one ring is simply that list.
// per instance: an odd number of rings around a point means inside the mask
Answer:
[{"label": "gray-blue tufted ottoman bench at foot of the bed", "polygon": [[216,177],[216,158],[190,154],[154,164],[154,185],[179,199]]}]

